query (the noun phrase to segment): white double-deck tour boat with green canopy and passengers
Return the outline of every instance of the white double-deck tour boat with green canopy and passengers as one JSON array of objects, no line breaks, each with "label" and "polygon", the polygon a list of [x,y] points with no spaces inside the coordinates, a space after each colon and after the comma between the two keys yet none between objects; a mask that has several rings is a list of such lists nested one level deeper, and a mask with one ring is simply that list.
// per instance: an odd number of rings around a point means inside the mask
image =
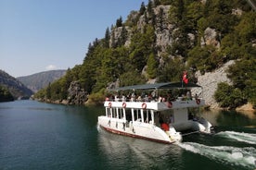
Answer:
[{"label": "white double-deck tour boat with green canopy and passengers", "polygon": [[[191,130],[211,133],[211,123],[204,118],[192,115],[190,111],[205,105],[198,96],[180,96],[172,99],[158,94],[160,91],[191,92],[200,88],[197,84],[182,82],[155,83],[117,88],[114,92],[129,92],[128,97],[107,97],[104,102],[105,115],[98,116],[98,125],[109,132],[134,138],[174,143],[182,140],[182,131]],[[134,96],[136,91],[153,92]],[[190,93],[191,94],[191,93]],[[194,113],[195,114],[195,113]]]}]

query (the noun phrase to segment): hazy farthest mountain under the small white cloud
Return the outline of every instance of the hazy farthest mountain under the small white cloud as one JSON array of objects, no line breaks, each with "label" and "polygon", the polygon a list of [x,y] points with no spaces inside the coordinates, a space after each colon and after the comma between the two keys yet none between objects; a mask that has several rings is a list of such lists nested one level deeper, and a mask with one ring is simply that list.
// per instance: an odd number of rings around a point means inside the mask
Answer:
[{"label": "hazy farthest mountain under the small white cloud", "polygon": [[24,85],[26,85],[30,90],[36,92],[40,89],[45,88],[50,82],[55,81],[56,79],[61,78],[66,74],[66,70],[50,70],[44,71],[36,74],[32,74],[30,76],[19,77],[19,81],[21,81]]}]

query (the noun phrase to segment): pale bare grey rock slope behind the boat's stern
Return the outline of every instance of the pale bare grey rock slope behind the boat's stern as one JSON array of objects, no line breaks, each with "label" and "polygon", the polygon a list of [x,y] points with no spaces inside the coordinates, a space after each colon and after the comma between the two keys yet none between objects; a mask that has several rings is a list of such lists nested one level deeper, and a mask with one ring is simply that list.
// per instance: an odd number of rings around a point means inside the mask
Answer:
[{"label": "pale bare grey rock slope behind the boat's stern", "polygon": [[213,72],[207,72],[204,75],[197,72],[196,76],[198,78],[198,85],[202,86],[203,91],[201,93],[199,93],[199,91],[192,91],[192,94],[197,93],[199,97],[204,98],[206,104],[210,105],[211,108],[218,108],[218,103],[216,103],[213,97],[214,92],[217,90],[217,85],[220,82],[231,84],[230,79],[228,79],[226,76],[226,70],[234,63],[234,60],[230,60],[224,64],[224,67],[220,67]]}]

